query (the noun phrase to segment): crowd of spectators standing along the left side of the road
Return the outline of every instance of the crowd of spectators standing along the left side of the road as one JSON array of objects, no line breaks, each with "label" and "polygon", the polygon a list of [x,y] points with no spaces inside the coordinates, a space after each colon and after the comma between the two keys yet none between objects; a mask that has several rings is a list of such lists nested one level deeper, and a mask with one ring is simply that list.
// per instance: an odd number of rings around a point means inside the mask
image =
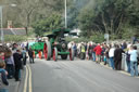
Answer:
[{"label": "crowd of spectators standing along the left side of the road", "polygon": [[[34,62],[34,52],[23,43],[0,45],[0,92],[9,92],[9,79],[21,81],[22,69],[26,66],[26,61]],[[5,50],[4,50],[5,49]]]}]

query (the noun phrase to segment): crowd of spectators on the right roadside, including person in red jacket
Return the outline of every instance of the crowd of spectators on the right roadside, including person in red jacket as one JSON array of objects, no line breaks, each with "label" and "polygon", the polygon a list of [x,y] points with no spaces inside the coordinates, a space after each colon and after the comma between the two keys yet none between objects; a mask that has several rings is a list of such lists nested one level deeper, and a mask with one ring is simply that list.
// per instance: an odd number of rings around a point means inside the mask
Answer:
[{"label": "crowd of spectators on the right roadside, including person in red jacket", "polygon": [[73,48],[75,56],[81,60],[91,60],[97,64],[103,62],[114,70],[122,70],[123,54],[126,56],[127,73],[132,77],[138,76],[139,51],[137,45],[130,42],[117,43],[94,43],[94,42],[71,42],[68,48]]}]

